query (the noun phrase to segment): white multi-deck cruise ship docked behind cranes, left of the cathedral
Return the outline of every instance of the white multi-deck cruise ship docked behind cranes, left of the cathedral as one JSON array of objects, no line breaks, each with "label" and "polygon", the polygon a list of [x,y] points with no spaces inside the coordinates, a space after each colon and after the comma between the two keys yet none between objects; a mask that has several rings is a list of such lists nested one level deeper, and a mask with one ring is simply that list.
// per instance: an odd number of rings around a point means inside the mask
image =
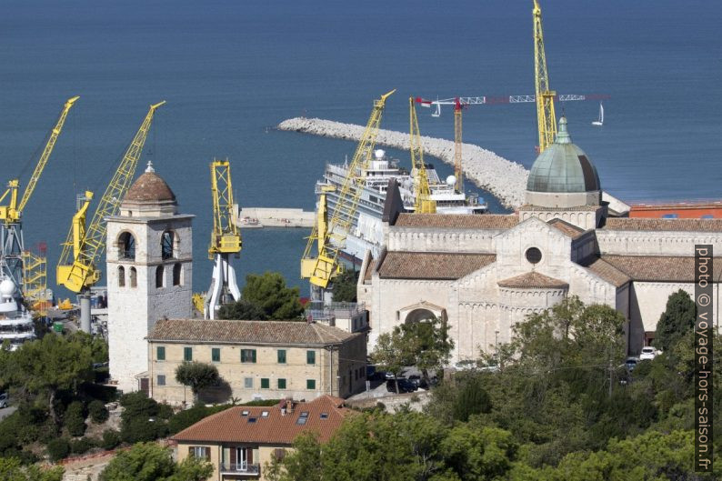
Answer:
[{"label": "white multi-deck cruise ship docked behind cranes, left of the cathedral", "polygon": [[[336,208],[338,193],[341,191],[344,179],[348,172],[346,164],[327,164],[324,177],[316,183],[316,204],[321,188],[325,185],[336,187],[326,192],[327,212],[331,215]],[[381,217],[386,202],[386,188],[388,181],[396,178],[401,198],[407,211],[414,211],[414,176],[398,165],[398,160],[386,156],[384,150],[378,149],[374,159],[367,169],[357,172],[356,175],[365,179],[356,210],[356,218],[352,222],[351,232],[346,236],[346,246],[342,249],[342,256],[348,261],[360,264],[366,250],[371,250],[378,256],[383,243],[383,230]],[[438,214],[484,214],[486,203],[477,195],[465,195],[455,189],[456,178],[449,175],[446,182],[442,182],[433,165],[426,164],[431,187],[431,198],[436,201]]]}]

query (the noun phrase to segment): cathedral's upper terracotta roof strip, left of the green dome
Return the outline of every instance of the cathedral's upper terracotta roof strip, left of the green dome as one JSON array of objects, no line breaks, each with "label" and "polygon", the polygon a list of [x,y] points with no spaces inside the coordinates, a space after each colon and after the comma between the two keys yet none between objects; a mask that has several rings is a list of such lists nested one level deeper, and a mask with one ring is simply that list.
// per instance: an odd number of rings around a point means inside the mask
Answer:
[{"label": "cathedral's upper terracotta roof strip, left of the green dome", "polygon": [[510,229],[519,223],[513,214],[399,214],[396,227],[450,229]]}]

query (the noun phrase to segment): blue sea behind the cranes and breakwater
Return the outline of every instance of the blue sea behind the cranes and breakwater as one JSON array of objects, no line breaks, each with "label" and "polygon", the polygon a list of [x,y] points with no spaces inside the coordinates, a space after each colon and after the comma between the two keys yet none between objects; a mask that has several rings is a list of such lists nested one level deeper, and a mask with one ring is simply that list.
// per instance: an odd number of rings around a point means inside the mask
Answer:
[{"label": "blue sea behind the cranes and breakwater", "polygon": [[[56,288],[75,195],[103,192],[147,106],[167,100],[138,171],[152,160],[180,209],[196,215],[194,290],[206,290],[213,157],[231,160],[241,205],[312,209],[324,165],[353,155],[355,145],[266,127],[298,115],[365,124],[373,99],[392,88],[383,126],[403,131],[409,95],[534,94],[531,7],[531,0],[4,0],[4,178],[26,182],[65,99],[81,95],[25,209],[25,244],[47,243],[48,284]],[[590,125],[597,102],[557,105],[604,188],[627,202],[719,198],[717,3],[549,0],[542,8],[551,86],[610,95],[603,127]],[[422,134],[453,138],[451,110],[429,114],[419,111]],[[528,167],[535,106],[472,106],[464,140]],[[392,154],[408,163],[407,154]],[[277,270],[305,293],[298,263],[307,234],[244,231],[241,284],[248,273]]]}]

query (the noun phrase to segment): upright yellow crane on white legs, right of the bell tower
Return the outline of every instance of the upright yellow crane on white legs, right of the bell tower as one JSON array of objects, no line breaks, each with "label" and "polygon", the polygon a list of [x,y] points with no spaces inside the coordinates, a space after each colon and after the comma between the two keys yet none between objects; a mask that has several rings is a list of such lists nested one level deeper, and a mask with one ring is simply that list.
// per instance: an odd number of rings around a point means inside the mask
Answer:
[{"label": "upright yellow crane on white legs, right of the bell tower", "polygon": [[236,270],[231,266],[230,256],[241,252],[241,233],[236,225],[236,209],[233,204],[231,165],[226,160],[211,162],[211,193],[213,195],[213,232],[208,247],[208,258],[216,260],[213,280],[206,293],[204,317],[215,319],[220,306],[238,301],[241,292],[236,283]]}]

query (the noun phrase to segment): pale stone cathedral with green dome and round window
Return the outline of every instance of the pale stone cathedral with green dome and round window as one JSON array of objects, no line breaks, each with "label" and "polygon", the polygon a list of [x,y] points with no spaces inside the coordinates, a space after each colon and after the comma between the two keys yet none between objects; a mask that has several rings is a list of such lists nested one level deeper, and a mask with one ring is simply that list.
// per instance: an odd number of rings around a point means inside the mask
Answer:
[{"label": "pale stone cathedral with green dome and round window", "polygon": [[[654,338],[667,297],[693,293],[695,245],[722,249],[722,219],[614,215],[564,117],[514,214],[405,214],[389,189],[385,246],[366,255],[357,286],[369,350],[395,326],[436,316],[450,327],[454,361],[476,359],[508,342],[526,316],[578,296],[625,316],[627,349],[637,354]],[[714,272],[722,275],[717,258]],[[717,280],[714,288],[717,298]],[[714,319],[717,326],[717,309]]]}]

